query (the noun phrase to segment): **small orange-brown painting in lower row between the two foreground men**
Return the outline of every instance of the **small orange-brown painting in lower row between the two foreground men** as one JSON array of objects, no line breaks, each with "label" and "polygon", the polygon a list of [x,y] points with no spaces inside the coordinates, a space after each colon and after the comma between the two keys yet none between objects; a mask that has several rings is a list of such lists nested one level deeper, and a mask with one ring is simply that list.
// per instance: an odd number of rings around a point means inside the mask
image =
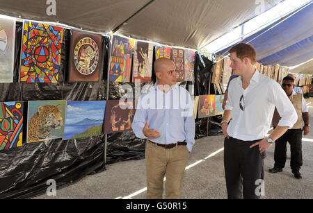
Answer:
[{"label": "small orange-brown painting in lower row between the two foreground men", "polygon": [[215,109],[215,95],[199,96],[198,118],[209,117],[209,114]]}]

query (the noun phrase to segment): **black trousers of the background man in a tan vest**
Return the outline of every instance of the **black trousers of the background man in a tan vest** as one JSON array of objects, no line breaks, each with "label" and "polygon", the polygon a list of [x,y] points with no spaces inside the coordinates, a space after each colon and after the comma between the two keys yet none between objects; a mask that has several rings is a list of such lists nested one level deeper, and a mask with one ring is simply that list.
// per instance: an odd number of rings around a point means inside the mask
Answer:
[{"label": "black trousers of the background man in a tan vest", "polygon": [[302,130],[287,130],[282,137],[275,142],[274,167],[284,168],[287,158],[287,142],[290,144],[290,167],[293,172],[299,171],[303,164],[302,160]]}]

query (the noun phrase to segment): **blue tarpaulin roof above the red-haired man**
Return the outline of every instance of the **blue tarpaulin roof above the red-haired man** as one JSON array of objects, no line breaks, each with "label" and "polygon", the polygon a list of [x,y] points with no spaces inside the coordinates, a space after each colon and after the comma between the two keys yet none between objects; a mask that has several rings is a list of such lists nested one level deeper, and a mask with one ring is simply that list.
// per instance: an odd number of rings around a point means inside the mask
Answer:
[{"label": "blue tarpaulin roof above the red-haired man", "polygon": [[[313,1],[240,41],[257,51],[263,65],[295,66],[313,58]],[[230,46],[216,53],[227,55]]]}]

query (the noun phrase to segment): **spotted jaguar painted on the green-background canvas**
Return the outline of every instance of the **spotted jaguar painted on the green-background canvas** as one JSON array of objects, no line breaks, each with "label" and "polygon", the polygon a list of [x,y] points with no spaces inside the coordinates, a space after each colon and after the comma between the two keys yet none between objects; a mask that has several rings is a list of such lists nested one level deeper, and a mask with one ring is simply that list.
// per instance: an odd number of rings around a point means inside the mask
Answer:
[{"label": "spotted jaguar painted on the green-background canvas", "polygon": [[28,143],[52,139],[52,130],[63,126],[60,104],[40,105],[37,109],[29,120]]}]

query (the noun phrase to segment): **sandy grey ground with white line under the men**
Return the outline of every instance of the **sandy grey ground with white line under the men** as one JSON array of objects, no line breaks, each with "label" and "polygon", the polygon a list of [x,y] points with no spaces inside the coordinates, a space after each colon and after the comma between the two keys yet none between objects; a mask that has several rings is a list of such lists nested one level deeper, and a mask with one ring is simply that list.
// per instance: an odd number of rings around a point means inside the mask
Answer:
[{"label": "sandy grey ground with white line under the men", "polygon": [[[313,98],[306,99],[309,106],[311,132],[303,136],[303,179],[297,180],[290,169],[288,145],[286,167],[280,173],[269,173],[273,167],[274,146],[266,151],[264,160],[265,199],[313,198]],[[182,188],[183,199],[227,198],[224,164],[223,135],[204,137],[195,141]],[[37,196],[47,199],[115,199],[145,198],[145,160],[130,160],[109,164],[106,171],[86,176],[73,185],[58,189],[56,196]]]}]

